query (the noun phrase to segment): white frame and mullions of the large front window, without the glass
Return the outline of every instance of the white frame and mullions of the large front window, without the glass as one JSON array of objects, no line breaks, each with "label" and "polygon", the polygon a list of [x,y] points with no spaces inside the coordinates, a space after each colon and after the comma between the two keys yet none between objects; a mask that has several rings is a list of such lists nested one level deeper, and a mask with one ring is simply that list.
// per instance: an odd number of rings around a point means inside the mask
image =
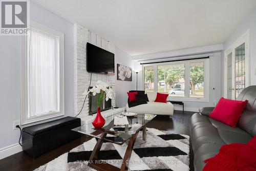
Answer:
[{"label": "white frame and mullions of the large front window, without the glass", "polygon": [[[189,97],[189,63],[190,62],[204,62],[204,97]],[[147,66],[154,66],[154,92],[157,92],[157,83],[158,83],[158,76],[157,76],[157,66],[159,65],[171,65],[176,63],[185,63],[185,96],[184,97],[174,97],[169,96],[169,100],[173,101],[198,101],[198,102],[209,102],[209,58],[205,59],[188,59],[183,61],[174,61],[174,62],[162,62],[162,63],[152,63],[142,65],[142,84],[141,88],[144,90],[144,67]]]}]

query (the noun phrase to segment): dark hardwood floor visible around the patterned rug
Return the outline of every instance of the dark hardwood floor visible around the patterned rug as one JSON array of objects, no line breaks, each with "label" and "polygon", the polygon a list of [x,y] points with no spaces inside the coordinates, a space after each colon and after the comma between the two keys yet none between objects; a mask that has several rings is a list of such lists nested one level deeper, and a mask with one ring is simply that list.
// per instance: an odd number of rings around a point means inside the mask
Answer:
[{"label": "dark hardwood floor visible around the patterned rug", "polygon": [[[147,124],[148,127],[153,127],[158,130],[170,131],[176,134],[185,134],[190,136],[190,117],[195,112],[184,112],[175,111],[173,118],[169,116],[160,116],[158,115],[150,123]],[[191,137],[191,136],[190,136]],[[0,170],[9,171],[9,170],[33,170],[40,165],[44,165],[49,161],[57,158],[61,154],[69,152],[72,148],[82,144],[85,141],[91,139],[88,136],[82,135],[79,139],[71,141],[65,145],[62,145],[58,148],[55,148],[51,152],[48,152],[40,157],[33,159],[31,156],[25,152],[19,152],[12,156],[9,156],[5,159],[0,160]],[[191,141],[190,141],[191,144]],[[193,165],[193,151],[190,145],[190,170],[194,170]]]}]

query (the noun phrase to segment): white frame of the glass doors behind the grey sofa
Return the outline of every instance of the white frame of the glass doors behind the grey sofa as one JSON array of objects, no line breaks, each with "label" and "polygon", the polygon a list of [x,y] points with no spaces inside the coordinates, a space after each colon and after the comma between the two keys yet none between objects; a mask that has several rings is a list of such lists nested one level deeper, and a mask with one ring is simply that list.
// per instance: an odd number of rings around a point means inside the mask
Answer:
[{"label": "white frame of the glass doors behind the grey sofa", "polygon": [[[224,58],[225,58],[225,68],[224,68],[224,97],[227,98],[227,55],[232,53],[232,65],[234,65],[234,54],[235,54],[235,49],[242,45],[245,42],[245,88],[250,86],[250,30],[246,30],[245,33],[243,33],[236,41],[231,44],[224,53]],[[234,67],[232,67],[232,78],[234,78],[235,71]],[[232,88],[235,87],[235,82],[232,82]],[[233,97],[232,93],[232,99],[235,99]]]}]

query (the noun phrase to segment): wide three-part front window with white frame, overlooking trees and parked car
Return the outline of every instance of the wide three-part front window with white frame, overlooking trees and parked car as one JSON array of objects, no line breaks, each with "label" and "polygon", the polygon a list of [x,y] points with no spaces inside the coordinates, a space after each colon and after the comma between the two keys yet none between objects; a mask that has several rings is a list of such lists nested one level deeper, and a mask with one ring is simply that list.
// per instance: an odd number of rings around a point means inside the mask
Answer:
[{"label": "wide three-part front window with white frame, overlooking trees and parked car", "polygon": [[144,65],[144,90],[168,93],[171,99],[209,100],[209,59]]}]

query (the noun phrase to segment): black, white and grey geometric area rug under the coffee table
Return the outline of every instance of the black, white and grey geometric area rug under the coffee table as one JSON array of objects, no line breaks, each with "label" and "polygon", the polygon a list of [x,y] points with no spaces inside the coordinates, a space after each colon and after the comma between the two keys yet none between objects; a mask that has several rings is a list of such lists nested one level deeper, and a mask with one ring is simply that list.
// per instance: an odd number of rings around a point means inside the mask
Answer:
[{"label": "black, white and grey geometric area rug under the coffee table", "polygon": [[[189,170],[189,136],[151,128],[147,128],[146,136],[146,143],[135,142],[130,170]],[[142,132],[138,138],[142,139]],[[87,165],[95,144],[96,139],[93,138],[35,170],[95,170]],[[126,147],[127,143],[117,145],[104,142],[99,159],[120,168]]]}]

